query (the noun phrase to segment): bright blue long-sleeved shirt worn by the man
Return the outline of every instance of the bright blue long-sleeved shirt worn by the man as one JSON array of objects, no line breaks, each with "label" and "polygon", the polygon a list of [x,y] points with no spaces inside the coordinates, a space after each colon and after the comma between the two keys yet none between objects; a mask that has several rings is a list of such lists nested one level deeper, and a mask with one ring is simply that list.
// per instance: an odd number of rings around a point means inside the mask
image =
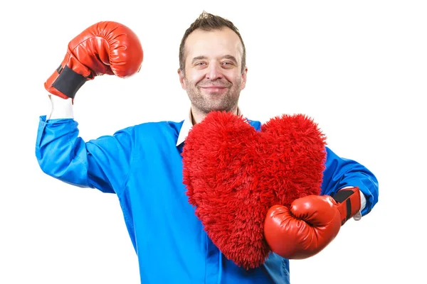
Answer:
[{"label": "bright blue long-sleeved shirt worn by the man", "polygon": [[[271,253],[262,266],[246,271],[209,239],[182,182],[184,143],[177,141],[183,123],[144,123],[85,142],[74,119],[41,116],[36,158],[58,180],[117,195],[141,283],[290,283],[288,259]],[[260,130],[259,121],[250,123]],[[375,176],[327,148],[322,194],[346,186],[359,187],[367,199],[362,215],[369,213],[378,200]]]}]

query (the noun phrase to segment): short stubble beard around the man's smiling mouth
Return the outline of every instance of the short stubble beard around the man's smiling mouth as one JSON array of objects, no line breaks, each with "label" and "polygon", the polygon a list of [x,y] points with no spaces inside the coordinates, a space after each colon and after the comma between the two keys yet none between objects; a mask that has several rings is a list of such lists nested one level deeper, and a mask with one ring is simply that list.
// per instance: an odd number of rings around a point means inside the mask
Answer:
[{"label": "short stubble beard around the man's smiling mouth", "polygon": [[236,84],[231,84],[231,82],[226,80],[210,81],[209,84],[225,86],[228,89],[226,94],[223,94],[218,98],[212,98],[209,97],[209,95],[202,93],[201,87],[206,84],[206,81],[194,84],[194,82],[191,82],[186,78],[184,80],[186,81],[186,85],[189,86],[187,94],[189,95],[192,107],[201,111],[203,114],[209,114],[211,111],[233,111],[237,108],[238,98],[240,97],[241,92],[241,80],[238,80]]}]

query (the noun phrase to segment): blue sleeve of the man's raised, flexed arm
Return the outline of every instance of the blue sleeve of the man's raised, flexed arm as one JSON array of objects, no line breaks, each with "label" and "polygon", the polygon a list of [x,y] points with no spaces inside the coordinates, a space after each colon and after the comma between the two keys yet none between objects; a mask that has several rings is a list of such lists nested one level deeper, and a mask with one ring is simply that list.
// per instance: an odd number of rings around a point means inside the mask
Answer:
[{"label": "blue sleeve of the man's raised, flexed arm", "polygon": [[79,187],[119,193],[127,181],[134,128],[83,141],[74,119],[40,116],[36,158],[44,173]]}]

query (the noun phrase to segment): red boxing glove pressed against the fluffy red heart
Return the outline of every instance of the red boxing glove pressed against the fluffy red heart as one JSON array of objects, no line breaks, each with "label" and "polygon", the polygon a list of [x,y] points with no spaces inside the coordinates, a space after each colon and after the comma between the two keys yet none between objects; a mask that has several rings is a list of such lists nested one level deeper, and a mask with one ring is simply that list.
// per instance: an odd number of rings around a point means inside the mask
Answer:
[{"label": "red boxing glove pressed against the fluffy red heart", "polygon": [[270,207],[264,235],[275,253],[288,259],[303,259],[325,249],[341,226],[360,210],[358,187],[339,190],[334,197],[308,195],[288,207]]}]

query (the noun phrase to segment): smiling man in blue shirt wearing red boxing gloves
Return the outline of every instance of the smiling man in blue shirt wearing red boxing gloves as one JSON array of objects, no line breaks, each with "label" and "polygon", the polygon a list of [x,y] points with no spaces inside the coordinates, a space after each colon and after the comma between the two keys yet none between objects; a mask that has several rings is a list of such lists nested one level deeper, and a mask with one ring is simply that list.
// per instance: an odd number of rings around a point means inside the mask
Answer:
[{"label": "smiling man in blue shirt wearing red boxing gloves", "polygon": [[[288,259],[310,257],[332,241],[337,226],[321,244],[302,245],[305,233],[283,227],[283,217],[273,209],[265,220],[265,237],[274,253],[261,266],[247,270],[223,256],[188,202],[181,153],[191,127],[211,111],[240,115],[238,98],[248,69],[245,45],[231,21],[204,12],[182,38],[178,74],[191,101],[188,118],[139,124],[88,142],[78,136],[73,120],[76,92],[97,75],[135,74],[142,49],[132,31],[113,22],[88,28],[68,47],[45,83],[53,108],[40,118],[36,157],[54,178],[117,195],[138,255],[141,283],[289,283]],[[259,130],[257,121],[251,125]],[[292,214],[311,210],[322,217],[333,212],[339,226],[368,214],[378,200],[375,176],[329,148],[325,167],[322,196],[302,200],[307,208],[292,208]],[[295,221],[292,214],[286,214],[294,219],[290,223]],[[313,229],[308,223],[305,226]],[[288,238],[295,242],[283,246]]]}]

